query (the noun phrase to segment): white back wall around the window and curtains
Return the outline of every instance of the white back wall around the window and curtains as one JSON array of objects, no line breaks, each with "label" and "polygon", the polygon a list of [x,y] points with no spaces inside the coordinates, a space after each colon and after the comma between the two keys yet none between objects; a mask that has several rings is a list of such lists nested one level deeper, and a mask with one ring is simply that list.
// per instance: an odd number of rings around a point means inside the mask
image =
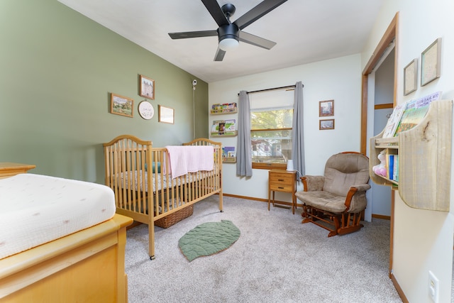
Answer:
[{"label": "white back wall around the window and curtains", "polygon": [[[326,160],[345,150],[360,151],[361,70],[360,55],[339,57],[272,72],[209,83],[209,104],[238,102],[240,90],[304,84],[304,136],[306,174],[322,175]],[[319,117],[319,101],[334,100],[334,116]],[[211,106],[211,105],[210,105]],[[319,130],[320,119],[335,119],[335,129]],[[238,114],[211,115],[213,120],[238,119]],[[237,138],[216,138],[236,146]],[[236,165],[223,165],[223,191],[227,194],[267,199],[268,170],[253,170],[253,177],[236,176]],[[301,182],[299,189],[302,188]],[[290,194],[277,192],[276,199],[291,202]]]}]

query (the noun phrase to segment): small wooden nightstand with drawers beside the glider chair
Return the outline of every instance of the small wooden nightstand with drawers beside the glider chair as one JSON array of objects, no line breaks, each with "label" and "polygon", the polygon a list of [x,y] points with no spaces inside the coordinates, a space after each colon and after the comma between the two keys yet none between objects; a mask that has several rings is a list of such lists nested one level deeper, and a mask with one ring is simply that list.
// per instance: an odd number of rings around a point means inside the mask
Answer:
[{"label": "small wooden nightstand with drawers beside the glider chair", "polygon": [[292,193],[292,213],[297,207],[297,172],[292,170],[270,170],[268,174],[268,210],[270,210],[272,192],[272,204],[275,205],[275,192]]}]

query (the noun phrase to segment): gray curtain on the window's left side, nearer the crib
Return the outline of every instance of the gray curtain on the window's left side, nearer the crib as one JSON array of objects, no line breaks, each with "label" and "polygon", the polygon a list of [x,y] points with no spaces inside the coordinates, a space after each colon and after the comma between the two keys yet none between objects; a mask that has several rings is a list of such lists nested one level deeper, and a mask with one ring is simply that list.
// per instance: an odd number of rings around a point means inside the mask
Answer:
[{"label": "gray curtain on the window's left side, nearer the crib", "polygon": [[238,104],[238,143],[236,150],[236,175],[253,175],[252,145],[250,143],[250,104],[246,91],[240,92]]}]

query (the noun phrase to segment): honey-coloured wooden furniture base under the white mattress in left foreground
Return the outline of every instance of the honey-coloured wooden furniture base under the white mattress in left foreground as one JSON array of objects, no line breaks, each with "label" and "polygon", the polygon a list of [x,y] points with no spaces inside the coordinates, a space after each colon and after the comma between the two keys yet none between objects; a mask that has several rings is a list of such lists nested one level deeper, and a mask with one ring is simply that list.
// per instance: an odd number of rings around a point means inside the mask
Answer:
[{"label": "honey-coloured wooden furniture base under the white mattress in left foreground", "polygon": [[128,302],[126,226],[101,224],[0,260],[1,302]]}]

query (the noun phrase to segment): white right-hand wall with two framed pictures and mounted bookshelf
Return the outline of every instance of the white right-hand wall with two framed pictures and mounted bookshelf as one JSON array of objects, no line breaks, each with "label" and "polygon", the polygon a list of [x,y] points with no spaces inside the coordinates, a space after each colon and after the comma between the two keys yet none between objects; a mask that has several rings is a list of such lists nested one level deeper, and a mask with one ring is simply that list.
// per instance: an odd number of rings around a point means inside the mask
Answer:
[{"label": "white right-hand wall with two framed pictures and mounted bookshelf", "polygon": [[[442,91],[443,99],[454,97],[454,1],[385,0],[370,39],[362,53],[365,67],[389,23],[399,13],[397,48],[397,104]],[[404,67],[436,38],[441,43],[441,77],[404,96]],[[419,70],[420,76],[420,70]],[[419,78],[421,79],[421,78]],[[451,144],[453,144],[451,142]],[[454,150],[454,145],[453,145]],[[454,162],[453,156],[451,163]],[[431,302],[428,272],[440,281],[438,302],[450,302],[453,276],[454,182],[451,165],[450,211],[426,211],[407,206],[394,191],[393,275],[409,302]]]}]

